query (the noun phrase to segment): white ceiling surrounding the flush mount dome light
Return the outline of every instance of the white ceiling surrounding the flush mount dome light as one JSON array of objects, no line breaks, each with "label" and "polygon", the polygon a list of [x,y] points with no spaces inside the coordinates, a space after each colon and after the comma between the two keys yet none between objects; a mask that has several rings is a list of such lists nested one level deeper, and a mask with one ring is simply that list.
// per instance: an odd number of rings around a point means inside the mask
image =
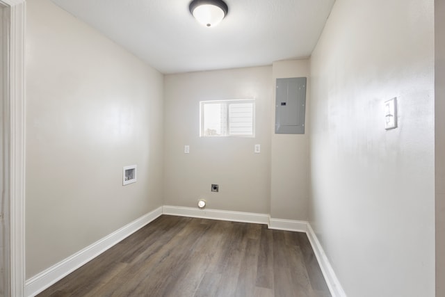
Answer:
[{"label": "white ceiling surrounding the flush mount dome light", "polygon": [[164,74],[270,65],[306,58],[335,0],[225,0],[213,28],[191,0],[53,0]]}]

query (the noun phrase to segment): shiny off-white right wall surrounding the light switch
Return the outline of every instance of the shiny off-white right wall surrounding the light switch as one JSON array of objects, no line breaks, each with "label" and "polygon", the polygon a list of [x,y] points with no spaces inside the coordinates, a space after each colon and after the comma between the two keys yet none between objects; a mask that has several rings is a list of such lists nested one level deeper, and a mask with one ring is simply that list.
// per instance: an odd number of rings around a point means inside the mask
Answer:
[{"label": "shiny off-white right wall surrounding the light switch", "polygon": [[433,11],[337,0],[312,54],[309,219],[348,296],[435,292]]}]

